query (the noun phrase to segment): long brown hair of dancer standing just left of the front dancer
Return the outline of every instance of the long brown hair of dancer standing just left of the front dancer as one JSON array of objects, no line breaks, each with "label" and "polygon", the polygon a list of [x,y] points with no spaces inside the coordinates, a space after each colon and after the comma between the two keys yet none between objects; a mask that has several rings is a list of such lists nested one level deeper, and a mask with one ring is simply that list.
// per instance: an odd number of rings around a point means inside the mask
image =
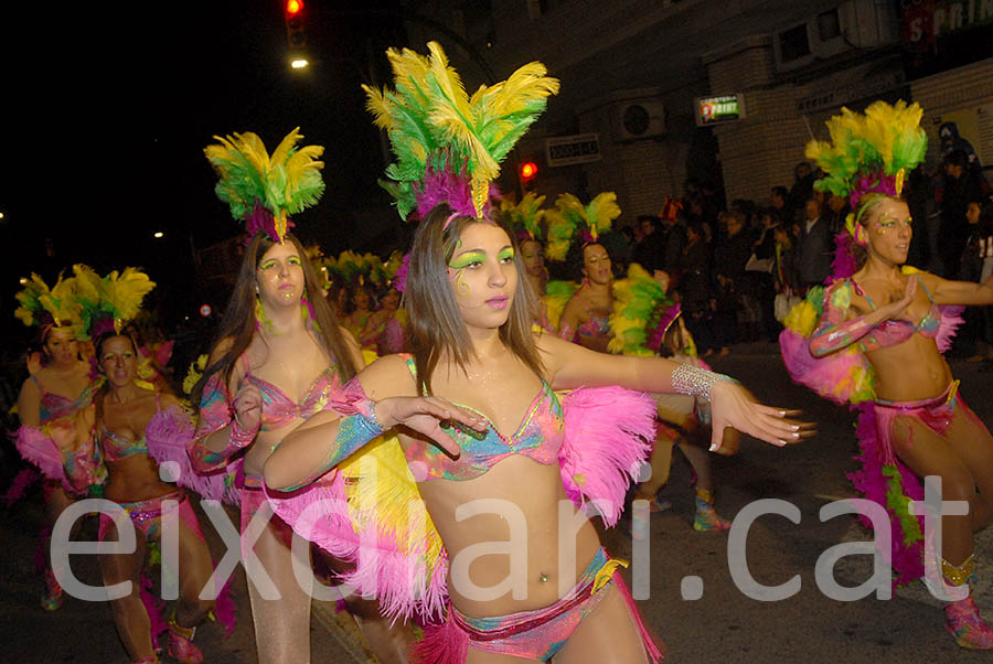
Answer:
[{"label": "long brown hair of dancer standing just left of the front dancer", "polygon": [[[286,242],[292,243],[300,257],[300,265],[303,268],[303,293],[308,297],[310,306],[313,308],[313,332],[317,334],[324,351],[337,365],[339,378],[342,383],[350,381],[356,373],[357,368],[352,362],[352,355],[349,346],[341,334],[341,325],[338,317],[331,310],[328,301],[323,297],[321,282],[307,257],[303,245],[292,234],[286,235]],[[269,239],[263,233],[256,233],[252,242],[245,248],[245,256],[242,259],[242,267],[238,269],[238,277],[235,281],[234,291],[231,293],[231,300],[224,309],[224,315],[217,325],[217,332],[211,344],[211,354],[217,345],[224,340],[232,340],[231,347],[224,352],[220,360],[207,366],[200,381],[193,387],[191,395],[194,404],[200,404],[200,397],[203,394],[203,387],[207,379],[221,372],[221,377],[226,386],[231,382],[231,374],[234,371],[235,362],[252,343],[255,335],[256,317],[255,317],[255,270],[258,261],[265,256],[276,243]]]}]

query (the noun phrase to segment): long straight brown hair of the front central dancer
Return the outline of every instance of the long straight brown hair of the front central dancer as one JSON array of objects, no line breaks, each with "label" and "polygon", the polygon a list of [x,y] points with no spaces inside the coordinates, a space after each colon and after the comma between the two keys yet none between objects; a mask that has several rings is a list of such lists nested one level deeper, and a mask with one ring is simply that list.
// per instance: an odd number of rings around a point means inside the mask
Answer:
[{"label": "long straight brown hair of the front central dancer", "polygon": [[[417,393],[431,390],[431,374],[442,353],[465,371],[471,358],[472,342],[462,322],[458,304],[448,281],[448,263],[465,229],[474,223],[471,217],[455,217],[447,205],[436,206],[418,224],[410,248],[410,268],[404,288],[404,307],[410,320],[410,345],[417,366]],[[517,242],[503,223],[496,223],[514,248],[514,269],[517,287],[506,322],[500,326],[500,340],[528,368],[543,375],[542,362],[531,328],[537,302],[524,274],[524,263]]]}]

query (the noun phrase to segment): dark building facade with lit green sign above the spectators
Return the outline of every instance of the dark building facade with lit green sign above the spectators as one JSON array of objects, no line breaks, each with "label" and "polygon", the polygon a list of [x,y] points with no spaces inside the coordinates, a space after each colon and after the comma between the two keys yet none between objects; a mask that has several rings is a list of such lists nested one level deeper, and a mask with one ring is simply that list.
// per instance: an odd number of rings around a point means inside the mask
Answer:
[{"label": "dark building facade with lit green sign above the spectators", "polygon": [[[554,197],[615,191],[622,223],[712,182],[766,203],[843,106],[917,100],[937,163],[957,122],[993,164],[993,0],[428,0],[468,88],[534,60],[562,81],[504,168]],[[701,100],[711,104],[701,106]],[[716,99],[714,99],[716,98]],[[714,110],[718,113],[712,113]]]}]

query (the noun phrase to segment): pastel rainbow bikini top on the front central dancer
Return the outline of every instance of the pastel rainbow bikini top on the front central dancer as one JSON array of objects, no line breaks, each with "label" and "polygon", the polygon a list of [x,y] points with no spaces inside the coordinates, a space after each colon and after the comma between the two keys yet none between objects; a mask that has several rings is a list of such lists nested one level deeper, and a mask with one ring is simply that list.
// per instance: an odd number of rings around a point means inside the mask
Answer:
[{"label": "pastel rainbow bikini top on the front central dancer", "polygon": [[[407,368],[416,377],[414,358],[409,355],[405,357]],[[563,409],[552,386],[544,379],[541,392],[511,436],[501,433],[492,420],[479,410],[457,405],[479,414],[489,428],[484,432],[462,427],[446,428],[446,433],[462,449],[458,459],[452,459],[435,445],[415,440],[404,451],[415,481],[473,480],[512,454],[522,454],[545,465],[558,463],[558,450],[564,437]]]}]

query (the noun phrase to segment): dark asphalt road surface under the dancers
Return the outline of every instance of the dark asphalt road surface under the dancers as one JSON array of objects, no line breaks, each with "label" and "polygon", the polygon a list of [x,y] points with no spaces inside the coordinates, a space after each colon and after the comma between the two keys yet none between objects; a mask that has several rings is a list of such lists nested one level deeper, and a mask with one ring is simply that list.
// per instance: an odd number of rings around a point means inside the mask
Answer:
[{"label": "dark asphalt road surface under the dancers", "polygon": [[[819,518],[823,505],[852,495],[845,473],[855,469],[854,418],[846,408],[793,385],[773,344],[739,345],[727,357],[708,360],[714,368],[740,378],[764,401],[802,408],[808,418],[819,422],[819,435],[801,445],[779,449],[745,439],[737,456],[712,457],[717,508],[725,518],[735,517],[758,499],[786,501],[799,510],[799,523],[776,514],[759,516],[749,529],[745,553],[747,569],[757,583],[778,586],[799,575],[800,587],[779,601],[754,599],[754,592],[739,589],[728,567],[728,534],[692,528],[690,467],[676,453],[670,481],[662,490],[673,507],[652,515],[647,540],[650,563],[636,570],[639,579],[645,580],[648,575],[649,598],[639,606],[650,628],[665,641],[668,661],[993,662],[993,655],[962,651],[954,644],[944,632],[940,603],[920,586],[888,600],[869,596],[857,601],[831,599],[819,588],[814,570],[824,551],[842,542],[871,537],[850,516]],[[960,361],[953,361],[952,368],[962,379],[961,393],[968,403],[984,421],[993,422],[993,373]],[[41,522],[36,492],[0,510],[0,624],[4,629],[0,663],[126,663],[107,606],[67,598],[56,612],[40,609],[41,578],[34,571],[33,554]],[[215,557],[220,557],[220,537],[210,526],[205,529]],[[81,538],[87,538],[86,533]],[[630,558],[630,521],[626,518],[605,533],[605,542],[615,556]],[[993,619],[993,572],[986,574],[993,560],[991,551],[993,532],[987,531],[980,535],[976,551],[981,578],[976,601],[989,619]],[[83,580],[98,579],[92,556],[74,559],[73,568]],[[858,586],[871,575],[868,557],[844,558],[834,571],[840,585]],[[624,575],[630,582],[631,571]],[[257,661],[241,568],[234,588],[238,604],[235,633],[224,639],[223,630],[213,624],[197,633],[196,643],[206,662]],[[314,602],[313,662],[371,661],[343,617],[332,604]]]}]

